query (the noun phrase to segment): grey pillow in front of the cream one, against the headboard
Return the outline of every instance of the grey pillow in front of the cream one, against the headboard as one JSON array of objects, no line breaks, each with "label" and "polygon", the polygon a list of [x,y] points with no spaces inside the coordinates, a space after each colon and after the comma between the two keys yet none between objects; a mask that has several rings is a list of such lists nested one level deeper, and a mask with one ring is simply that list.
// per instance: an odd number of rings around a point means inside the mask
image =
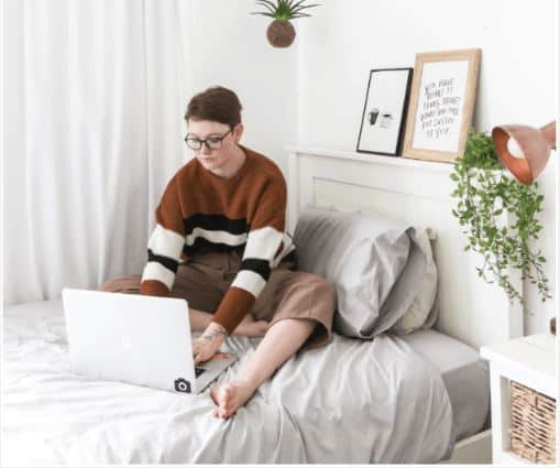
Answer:
[{"label": "grey pillow in front of the cream one, against the headboard", "polygon": [[297,266],[334,284],[333,330],[373,338],[408,309],[427,260],[415,229],[378,216],[306,208],[294,232]]}]

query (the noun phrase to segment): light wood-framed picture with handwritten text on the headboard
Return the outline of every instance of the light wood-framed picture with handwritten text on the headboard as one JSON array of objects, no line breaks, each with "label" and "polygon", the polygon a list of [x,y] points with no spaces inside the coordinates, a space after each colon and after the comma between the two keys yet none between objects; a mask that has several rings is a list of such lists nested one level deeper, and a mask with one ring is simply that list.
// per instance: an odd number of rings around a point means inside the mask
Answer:
[{"label": "light wood-framed picture with handwritten text on the headboard", "polygon": [[453,162],[472,124],[481,50],[416,55],[404,157]]}]

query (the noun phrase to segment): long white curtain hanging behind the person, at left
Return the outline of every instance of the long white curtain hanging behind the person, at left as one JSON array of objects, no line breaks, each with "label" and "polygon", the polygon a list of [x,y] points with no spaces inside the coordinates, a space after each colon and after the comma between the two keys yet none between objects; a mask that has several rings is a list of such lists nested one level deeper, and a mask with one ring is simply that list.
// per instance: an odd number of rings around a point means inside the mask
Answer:
[{"label": "long white curtain hanging behind the person, at left", "polygon": [[[193,94],[189,0],[18,1],[21,98],[3,119],[13,110],[21,121],[9,128],[19,144],[3,151],[4,304],[141,274],[154,208],[187,159]],[[4,75],[18,72],[9,66]]]}]

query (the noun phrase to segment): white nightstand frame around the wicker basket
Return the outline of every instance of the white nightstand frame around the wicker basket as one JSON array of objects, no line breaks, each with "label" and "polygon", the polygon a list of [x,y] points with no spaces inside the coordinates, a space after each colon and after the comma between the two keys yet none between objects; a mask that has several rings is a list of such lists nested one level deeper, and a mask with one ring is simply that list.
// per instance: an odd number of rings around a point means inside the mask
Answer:
[{"label": "white nightstand frame around the wicker basket", "polygon": [[546,333],[483,346],[490,361],[492,458],[501,465],[532,465],[509,451],[509,381],[514,380],[556,400],[556,336]]}]

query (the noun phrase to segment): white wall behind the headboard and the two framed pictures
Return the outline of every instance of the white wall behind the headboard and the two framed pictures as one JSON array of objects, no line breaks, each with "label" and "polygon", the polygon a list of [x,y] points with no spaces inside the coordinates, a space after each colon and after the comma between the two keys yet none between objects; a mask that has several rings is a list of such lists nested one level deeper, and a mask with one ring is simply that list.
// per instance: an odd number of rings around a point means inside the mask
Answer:
[{"label": "white wall behind the headboard and the two framed pictures", "polygon": [[[298,143],[355,149],[372,68],[415,64],[418,52],[482,48],[474,124],[547,123],[556,116],[556,0],[329,0],[299,20]],[[556,287],[556,157],[539,182],[546,197],[539,247]],[[451,215],[450,215],[451,216]],[[525,285],[525,333],[545,331],[556,298]],[[491,314],[492,311],[488,311]]]}]

